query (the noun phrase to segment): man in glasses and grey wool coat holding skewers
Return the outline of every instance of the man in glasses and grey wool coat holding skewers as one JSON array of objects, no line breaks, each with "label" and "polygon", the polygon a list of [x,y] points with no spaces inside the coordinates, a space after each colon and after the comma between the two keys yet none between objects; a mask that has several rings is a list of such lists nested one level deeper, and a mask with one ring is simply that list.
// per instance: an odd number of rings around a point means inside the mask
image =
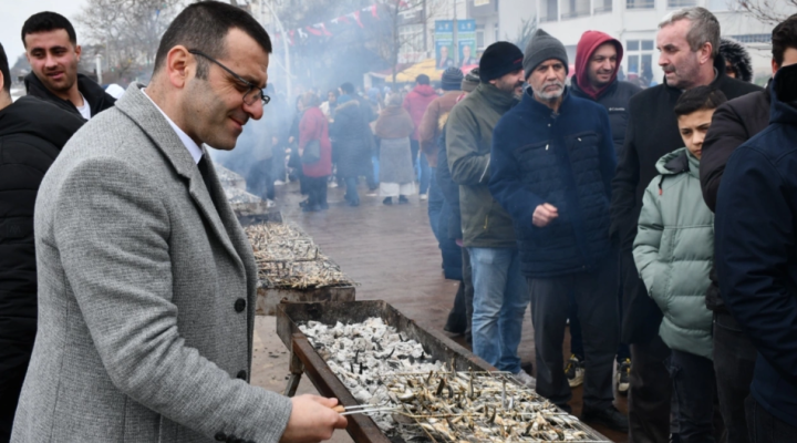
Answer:
[{"label": "man in glasses and grey wool coat holding skewers", "polygon": [[39,329],[12,442],[313,442],[337,400],[248,383],[257,266],[206,145],[262,116],[271,41],[193,3],[148,85],[86,123],[35,206]]}]

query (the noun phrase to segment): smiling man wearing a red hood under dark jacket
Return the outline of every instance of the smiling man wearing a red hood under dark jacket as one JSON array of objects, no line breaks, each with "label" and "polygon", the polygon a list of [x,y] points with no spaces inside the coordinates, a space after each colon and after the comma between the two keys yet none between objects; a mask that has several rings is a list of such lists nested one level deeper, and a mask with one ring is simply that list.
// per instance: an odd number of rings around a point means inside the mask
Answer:
[{"label": "smiling man wearing a red hood under dark jacket", "polygon": [[[575,96],[597,102],[609,112],[609,123],[618,158],[625,141],[629,102],[634,94],[642,91],[635,84],[618,80],[622,56],[623,48],[620,41],[600,31],[584,32],[576,48],[576,72],[570,83],[570,92]],[[622,300],[622,293],[619,292],[619,297]],[[566,371],[571,387],[578,385],[572,375],[576,375],[583,367],[581,324],[575,313],[577,310],[578,307],[573,305],[570,315],[572,357],[570,357],[568,371]],[[618,347],[617,363],[618,392],[625,394],[629,390],[631,372],[631,351],[628,344],[621,343]],[[583,370],[581,369],[581,371]],[[581,379],[583,379],[583,374],[581,374]]]}]

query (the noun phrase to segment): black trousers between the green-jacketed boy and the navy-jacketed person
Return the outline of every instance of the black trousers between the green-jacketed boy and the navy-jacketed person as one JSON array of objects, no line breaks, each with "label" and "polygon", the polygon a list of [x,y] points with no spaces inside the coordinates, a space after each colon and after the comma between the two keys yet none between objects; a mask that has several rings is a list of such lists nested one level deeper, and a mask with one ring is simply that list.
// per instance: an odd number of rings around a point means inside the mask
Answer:
[{"label": "black trousers between the green-jacketed boy and the navy-jacketed person", "polygon": [[714,315],[714,372],[720,412],[728,443],[747,443],[745,400],[749,395],[757,351],[728,312]]}]

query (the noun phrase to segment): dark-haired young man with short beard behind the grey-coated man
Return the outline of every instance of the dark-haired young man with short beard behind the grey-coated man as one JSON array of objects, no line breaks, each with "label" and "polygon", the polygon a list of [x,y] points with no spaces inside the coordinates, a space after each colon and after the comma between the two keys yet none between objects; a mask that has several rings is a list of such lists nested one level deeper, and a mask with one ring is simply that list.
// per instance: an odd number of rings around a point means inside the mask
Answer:
[{"label": "dark-haired young man with short beard behind the grey-coated man", "polygon": [[39,12],[22,25],[22,43],[31,64],[28,95],[45,100],[89,120],[114,105],[116,99],[77,73],[81,47],[74,28],[55,12]]}]

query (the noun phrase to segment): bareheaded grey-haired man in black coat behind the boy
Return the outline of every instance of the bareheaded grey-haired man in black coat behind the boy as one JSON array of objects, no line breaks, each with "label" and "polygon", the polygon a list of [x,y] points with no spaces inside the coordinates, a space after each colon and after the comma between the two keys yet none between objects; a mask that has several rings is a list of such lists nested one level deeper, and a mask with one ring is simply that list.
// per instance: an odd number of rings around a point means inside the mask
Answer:
[{"label": "bareheaded grey-haired man in black coat behind the boy", "polygon": [[631,344],[629,440],[670,441],[672,384],[664,361],[670,349],[659,337],[662,311],[648,296],[631,253],[642,196],[658,175],[655,164],[683,146],[673,109],[685,90],[711,85],[728,100],[760,87],[725,75],[720,22],[704,8],[674,11],[659,24],[656,47],[664,83],[631,99],[625,145],[612,182],[613,239],[620,245],[623,285],[622,341]]}]

